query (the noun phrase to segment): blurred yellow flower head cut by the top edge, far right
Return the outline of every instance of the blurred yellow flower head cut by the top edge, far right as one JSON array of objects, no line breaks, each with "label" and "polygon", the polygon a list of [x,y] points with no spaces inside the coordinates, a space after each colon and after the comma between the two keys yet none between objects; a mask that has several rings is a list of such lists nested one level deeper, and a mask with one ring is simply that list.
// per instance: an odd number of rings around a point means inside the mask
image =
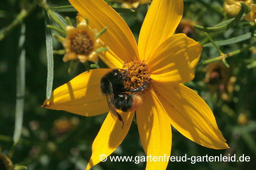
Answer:
[{"label": "blurred yellow flower head cut by the top edge, far right", "polygon": [[247,5],[251,5],[253,3],[252,0],[225,0],[223,4],[224,11],[232,17],[238,15],[241,10],[240,2],[244,2]]}]

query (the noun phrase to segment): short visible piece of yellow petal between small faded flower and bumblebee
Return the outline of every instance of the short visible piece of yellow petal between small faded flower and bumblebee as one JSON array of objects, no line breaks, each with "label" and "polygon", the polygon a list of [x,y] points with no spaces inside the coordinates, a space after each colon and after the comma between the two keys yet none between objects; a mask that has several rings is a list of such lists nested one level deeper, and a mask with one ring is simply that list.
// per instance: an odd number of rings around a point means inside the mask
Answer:
[{"label": "short visible piece of yellow petal between small faded flower and bumblebee", "polygon": [[124,61],[116,56],[110,49],[98,53],[98,56],[109,68],[123,68]]}]

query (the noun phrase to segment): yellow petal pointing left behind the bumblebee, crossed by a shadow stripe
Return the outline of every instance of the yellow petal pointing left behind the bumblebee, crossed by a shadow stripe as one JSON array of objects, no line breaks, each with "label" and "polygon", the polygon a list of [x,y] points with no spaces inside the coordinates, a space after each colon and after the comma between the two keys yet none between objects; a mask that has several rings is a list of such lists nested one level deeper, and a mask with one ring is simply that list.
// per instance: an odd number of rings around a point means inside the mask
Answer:
[{"label": "yellow petal pointing left behind the bumblebee, crossed by a shadow stripe", "polygon": [[84,72],[52,92],[43,107],[84,116],[94,116],[109,111],[106,97],[101,95],[101,77],[110,69],[93,69]]}]

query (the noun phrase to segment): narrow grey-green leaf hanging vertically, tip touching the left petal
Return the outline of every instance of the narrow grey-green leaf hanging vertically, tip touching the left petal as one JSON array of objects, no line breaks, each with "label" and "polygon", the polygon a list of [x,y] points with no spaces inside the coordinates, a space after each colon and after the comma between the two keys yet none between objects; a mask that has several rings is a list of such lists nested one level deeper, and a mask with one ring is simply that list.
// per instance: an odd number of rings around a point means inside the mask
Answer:
[{"label": "narrow grey-green leaf hanging vertically, tip touching the left petal", "polygon": [[45,13],[45,32],[46,32],[46,52],[47,52],[47,86],[46,86],[46,98],[50,99],[52,95],[53,86],[53,44],[52,44],[52,33],[47,24],[50,19],[48,13]]}]

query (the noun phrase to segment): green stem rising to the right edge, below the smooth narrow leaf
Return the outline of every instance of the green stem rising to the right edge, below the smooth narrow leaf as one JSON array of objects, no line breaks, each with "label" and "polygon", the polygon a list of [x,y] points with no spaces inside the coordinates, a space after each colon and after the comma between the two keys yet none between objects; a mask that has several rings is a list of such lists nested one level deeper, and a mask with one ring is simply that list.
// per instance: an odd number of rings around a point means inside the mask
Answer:
[{"label": "green stem rising to the right edge, below the smooth narrow leaf", "polygon": [[255,45],[256,45],[256,41],[253,42],[253,43],[250,44],[250,45],[247,45],[246,47],[244,47],[244,48],[242,48],[242,49],[235,50],[235,51],[233,51],[233,52],[229,52],[229,53],[226,53],[226,54],[221,55],[221,56],[219,56],[219,57],[215,57],[215,58],[212,58],[212,59],[209,59],[209,60],[206,60],[206,61],[202,61],[202,62],[200,62],[200,63],[197,64],[197,67],[198,67],[198,66],[203,66],[203,65],[206,65],[206,64],[209,64],[209,63],[212,63],[212,62],[221,61],[221,60],[223,60],[223,59],[226,59],[226,58],[228,58],[228,57],[231,57],[231,56],[234,56],[234,55],[236,55],[236,54],[238,54],[238,53],[241,53],[241,52],[243,52],[243,51],[246,51],[246,50],[250,49],[250,47],[255,46]]}]

